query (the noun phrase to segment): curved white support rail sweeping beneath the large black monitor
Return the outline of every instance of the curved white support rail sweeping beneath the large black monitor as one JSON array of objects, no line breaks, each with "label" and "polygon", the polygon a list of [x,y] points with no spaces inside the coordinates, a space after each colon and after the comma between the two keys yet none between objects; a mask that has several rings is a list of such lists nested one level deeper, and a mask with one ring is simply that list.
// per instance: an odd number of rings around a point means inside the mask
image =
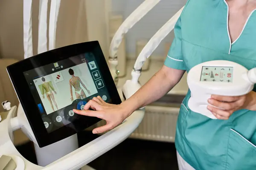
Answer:
[{"label": "curved white support rail sweeping beneath the large black monitor", "polygon": [[135,111],[121,125],[108,133],[99,136],[92,142],[85,144],[46,167],[41,167],[29,162],[20,155],[10,139],[9,135],[13,130],[10,124],[16,109],[17,107],[13,107],[7,119],[0,123],[0,156],[6,155],[15,160],[20,160],[20,164],[16,161],[17,167],[21,167],[20,170],[77,170],[127,139],[140,125],[145,113],[144,110]]}]

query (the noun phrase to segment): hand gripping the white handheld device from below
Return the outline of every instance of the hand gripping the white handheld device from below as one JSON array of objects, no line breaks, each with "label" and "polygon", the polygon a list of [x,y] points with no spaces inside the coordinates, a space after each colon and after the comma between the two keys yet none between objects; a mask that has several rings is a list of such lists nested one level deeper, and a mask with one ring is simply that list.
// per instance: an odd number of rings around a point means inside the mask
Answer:
[{"label": "hand gripping the white handheld device from below", "polygon": [[217,119],[227,120],[235,111],[241,109],[255,110],[255,98],[256,92],[253,91],[243,96],[212,95],[208,100],[210,105],[207,108]]}]

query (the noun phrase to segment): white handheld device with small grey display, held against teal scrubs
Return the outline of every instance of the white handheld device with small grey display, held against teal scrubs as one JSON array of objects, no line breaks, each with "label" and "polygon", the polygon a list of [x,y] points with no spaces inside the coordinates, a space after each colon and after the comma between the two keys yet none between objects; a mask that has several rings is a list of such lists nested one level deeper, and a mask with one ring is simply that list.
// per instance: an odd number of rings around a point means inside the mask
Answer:
[{"label": "white handheld device with small grey display, held against teal scrubs", "polygon": [[189,108],[211,119],[217,119],[208,109],[207,100],[212,94],[241,96],[253,90],[256,83],[256,68],[248,71],[244,66],[231,61],[215,60],[193,67],[187,76],[191,91]]}]

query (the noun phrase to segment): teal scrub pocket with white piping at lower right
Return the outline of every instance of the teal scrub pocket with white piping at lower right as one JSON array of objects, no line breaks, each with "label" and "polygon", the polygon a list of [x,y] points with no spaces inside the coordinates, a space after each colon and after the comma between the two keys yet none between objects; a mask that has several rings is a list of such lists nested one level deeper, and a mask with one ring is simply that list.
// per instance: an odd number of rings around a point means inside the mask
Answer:
[{"label": "teal scrub pocket with white piping at lower right", "polygon": [[226,170],[255,170],[256,146],[230,129]]}]

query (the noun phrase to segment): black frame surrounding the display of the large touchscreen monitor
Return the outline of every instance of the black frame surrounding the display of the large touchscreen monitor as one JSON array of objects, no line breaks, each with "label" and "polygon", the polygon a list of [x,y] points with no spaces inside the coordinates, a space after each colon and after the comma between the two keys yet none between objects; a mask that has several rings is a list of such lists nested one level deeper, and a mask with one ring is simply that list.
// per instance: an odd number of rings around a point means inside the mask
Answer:
[{"label": "black frame surrounding the display of the large touchscreen monitor", "polygon": [[[92,52],[94,54],[102,78],[108,80],[108,83],[106,83],[105,86],[108,89],[111,103],[120,104],[121,99],[98,41],[82,42],[79,44],[56,48],[54,50],[16,62],[7,67],[10,79],[39,147],[45,147],[49,144],[72,136],[77,132],[99,122],[101,119],[79,115],[79,119],[76,119],[69,125],[65,125],[51,133],[48,133],[23,72],[87,52]],[[90,123],[84,123],[88,122],[88,119],[90,119]]]}]

